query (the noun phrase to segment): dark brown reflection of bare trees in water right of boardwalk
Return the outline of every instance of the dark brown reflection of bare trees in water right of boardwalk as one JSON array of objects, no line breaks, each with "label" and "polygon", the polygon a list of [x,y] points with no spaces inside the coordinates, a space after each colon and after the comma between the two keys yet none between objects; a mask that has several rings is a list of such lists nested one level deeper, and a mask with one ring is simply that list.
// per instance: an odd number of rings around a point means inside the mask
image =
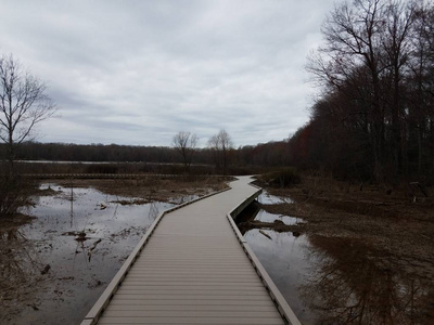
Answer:
[{"label": "dark brown reflection of bare trees in water right of boardwalk", "polygon": [[301,291],[321,324],[434,324],[432,278],[360,239],[309,239],[312,265]]}]

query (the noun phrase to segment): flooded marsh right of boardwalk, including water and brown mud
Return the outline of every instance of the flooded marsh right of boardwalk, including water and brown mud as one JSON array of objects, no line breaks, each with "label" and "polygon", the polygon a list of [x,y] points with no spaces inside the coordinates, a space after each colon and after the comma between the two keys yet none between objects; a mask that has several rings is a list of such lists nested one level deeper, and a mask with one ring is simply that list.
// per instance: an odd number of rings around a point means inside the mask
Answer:
[{"label": "flooded marsh right of boardwalk, including water and brown mud", "polygon": [[240,224],[301,322],[433,324],[432,199],[315,182],[270,188]]}]

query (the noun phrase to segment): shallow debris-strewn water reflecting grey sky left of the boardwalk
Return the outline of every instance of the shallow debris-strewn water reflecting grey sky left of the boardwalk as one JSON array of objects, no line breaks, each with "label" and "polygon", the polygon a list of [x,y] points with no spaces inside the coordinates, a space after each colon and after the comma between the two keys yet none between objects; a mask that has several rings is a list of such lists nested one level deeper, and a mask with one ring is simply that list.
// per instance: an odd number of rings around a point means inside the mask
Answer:
[{"label": "shallow debris-strewn water reflecting grey sky left of the boardwalk", "polygon": [[16,244],[0,323],[79,324],[157,214],[174,205],[56,184],[40,190],[47,195],[26,211],[35,220],[8,235]]}]

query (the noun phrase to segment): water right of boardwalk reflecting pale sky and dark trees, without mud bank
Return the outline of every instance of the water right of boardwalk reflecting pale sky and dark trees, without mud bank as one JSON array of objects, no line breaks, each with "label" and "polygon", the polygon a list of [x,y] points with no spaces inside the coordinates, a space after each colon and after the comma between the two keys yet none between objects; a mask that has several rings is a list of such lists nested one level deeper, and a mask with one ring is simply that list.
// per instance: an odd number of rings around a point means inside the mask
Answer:
[{"label": "water right of boardwalk reflecting pale sky and dark trees, without mud bank", "polygon": [[256,204],[238,221],[248,225],[240,231],[303,324],[434,324],[432,270],[417,271],[421,261],[368,240],[297,237],[253,222],[277,219]]}]

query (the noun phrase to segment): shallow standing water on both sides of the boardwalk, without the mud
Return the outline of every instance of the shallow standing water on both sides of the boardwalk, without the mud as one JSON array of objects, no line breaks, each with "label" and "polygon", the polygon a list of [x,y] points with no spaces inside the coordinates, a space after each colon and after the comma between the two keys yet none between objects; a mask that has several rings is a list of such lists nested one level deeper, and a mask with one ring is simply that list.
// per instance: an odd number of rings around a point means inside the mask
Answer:
[{"label": "shallow standing water on both sides of the boardwalk, without the mud", "polygon": [[[93,188],[41,191],[31,223],[0,229],[1,324],[79,324],[155,217],[173,206]],[[291,204],[267,193],[259,202]],[[261,209],[252,218],[304,222]],[[396,260],[369,243],[271,229],[244,236],[303,324],[431,324],[426,274],[394,272]]]}]

